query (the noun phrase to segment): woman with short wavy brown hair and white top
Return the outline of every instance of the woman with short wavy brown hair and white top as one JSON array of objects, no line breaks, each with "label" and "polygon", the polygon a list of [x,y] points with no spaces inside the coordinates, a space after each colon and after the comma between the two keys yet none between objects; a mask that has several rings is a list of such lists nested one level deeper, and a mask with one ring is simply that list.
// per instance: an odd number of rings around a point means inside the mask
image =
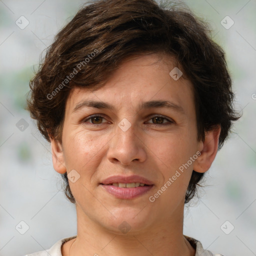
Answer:
[{"label": "woman with short wavy brown hair and white top", "polygon": [[213,255],[183,235],[184,203],[239,116],[204,23],[153,0],[95,1],[56,35],[30,88],[77,213],[76,236],[30,256]]}]

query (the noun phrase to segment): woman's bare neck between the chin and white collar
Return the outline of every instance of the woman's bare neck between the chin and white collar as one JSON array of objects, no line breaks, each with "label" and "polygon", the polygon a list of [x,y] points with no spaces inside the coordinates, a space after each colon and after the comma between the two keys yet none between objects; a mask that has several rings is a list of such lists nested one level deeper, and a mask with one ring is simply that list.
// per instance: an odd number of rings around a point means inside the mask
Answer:
[{"label": "woman's bare neck between the chin and white collar", "polygon": [[[162,255],[194,256],[195,250],[183,236],[183,206],[167,218],[143,228],[122,233],[89,218],[76,204],[77,237],[62,250],[63,256],[88,255]],[[72,246],[70,246],[72,244]],[[67,247],[68,246],[68,247]],[[69,253],[70,249],[70,253]]]}]

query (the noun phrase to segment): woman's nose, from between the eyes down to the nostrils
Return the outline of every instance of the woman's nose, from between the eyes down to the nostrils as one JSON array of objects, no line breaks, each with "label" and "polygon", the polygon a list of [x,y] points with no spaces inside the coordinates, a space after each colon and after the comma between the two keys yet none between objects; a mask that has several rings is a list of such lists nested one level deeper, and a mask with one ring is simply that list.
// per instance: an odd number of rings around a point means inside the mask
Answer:
[{"label": "woman's nose, from between the eyes down to the nostrils", "polygon": [[120,162],[129,165],[134,161],[143,162],[146,159],[145,144],[134,125],[123,131],[118,126],[115,135],[109,141],[107,158],[112,163]]}]

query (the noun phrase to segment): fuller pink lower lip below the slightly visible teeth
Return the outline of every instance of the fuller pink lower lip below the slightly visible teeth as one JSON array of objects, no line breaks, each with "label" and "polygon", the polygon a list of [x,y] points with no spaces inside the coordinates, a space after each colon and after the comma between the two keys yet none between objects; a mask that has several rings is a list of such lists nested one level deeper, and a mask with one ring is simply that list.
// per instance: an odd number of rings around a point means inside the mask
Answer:
[{"label": "fuller pink lower lip below the slightly visible teeth", "polygon": [[106,191],[120,199],[131,199],[149,191],[153,185],[137,187],[118,187],[100,184]]}]

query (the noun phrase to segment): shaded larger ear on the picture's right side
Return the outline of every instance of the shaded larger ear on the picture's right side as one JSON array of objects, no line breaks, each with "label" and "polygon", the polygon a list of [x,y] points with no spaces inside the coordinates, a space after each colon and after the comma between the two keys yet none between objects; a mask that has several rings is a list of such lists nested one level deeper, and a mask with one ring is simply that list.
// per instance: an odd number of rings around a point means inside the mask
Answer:
[{"label": "shaded larger ear on the picture's right side", "polygon": [[205,132],[204,141],[200,141],[201,154],[194,161],[194,171],[205,172],[210,168],[217,153],[220,129],[220,125],[217,125],[216,128]]}]

